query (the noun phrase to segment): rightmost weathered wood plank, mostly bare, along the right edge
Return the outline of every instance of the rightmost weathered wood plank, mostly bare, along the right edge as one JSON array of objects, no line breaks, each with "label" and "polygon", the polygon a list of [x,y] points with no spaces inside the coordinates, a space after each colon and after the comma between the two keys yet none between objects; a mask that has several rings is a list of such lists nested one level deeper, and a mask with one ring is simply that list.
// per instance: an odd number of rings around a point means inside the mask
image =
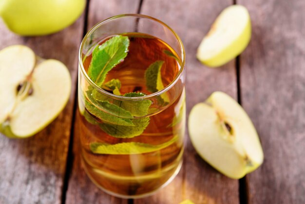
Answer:
[{"label": "rightmost weathered wood plank, mostly bare, along the right edge", "polygon": [[305,203],[305,1],[238,0],[252,19],[241,99],[265,161],[247,176],[249,204]]}]

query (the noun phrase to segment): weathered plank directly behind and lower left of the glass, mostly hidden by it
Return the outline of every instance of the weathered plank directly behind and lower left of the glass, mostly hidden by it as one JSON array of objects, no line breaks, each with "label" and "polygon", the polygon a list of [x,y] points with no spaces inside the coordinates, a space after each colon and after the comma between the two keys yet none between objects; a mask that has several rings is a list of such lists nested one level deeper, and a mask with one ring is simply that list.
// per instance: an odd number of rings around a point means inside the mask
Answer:
[{"label": "weathered plank directly behind and lower left of the glass, mostly hidden by it", "polygon": [[[111,16],[125,13],[136,13],[139,2],[139,0],[90,0],[88,30],[95,25],[95,23]],[[72,175],[69,179],[66,204],[126,204],[127,200],[114,198],[113,196],[101,191],[85,174],[85,171],[81,167],[78,148],[78,122],[79,116],[77,114],[74,131],[73,167]]]}]

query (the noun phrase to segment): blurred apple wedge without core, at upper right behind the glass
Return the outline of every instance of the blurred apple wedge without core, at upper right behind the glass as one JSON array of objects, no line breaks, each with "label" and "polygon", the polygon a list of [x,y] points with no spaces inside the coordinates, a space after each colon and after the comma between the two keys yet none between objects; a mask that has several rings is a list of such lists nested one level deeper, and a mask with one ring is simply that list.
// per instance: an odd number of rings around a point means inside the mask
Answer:
[{"label": "blurred apple wedge without core, at upper right behind the glass", "polygon": [[207,66],[221,66],[243,52],[250,38],[251,21],[247,8],[231,5],[221,12],[201,41],[197,58]]}]

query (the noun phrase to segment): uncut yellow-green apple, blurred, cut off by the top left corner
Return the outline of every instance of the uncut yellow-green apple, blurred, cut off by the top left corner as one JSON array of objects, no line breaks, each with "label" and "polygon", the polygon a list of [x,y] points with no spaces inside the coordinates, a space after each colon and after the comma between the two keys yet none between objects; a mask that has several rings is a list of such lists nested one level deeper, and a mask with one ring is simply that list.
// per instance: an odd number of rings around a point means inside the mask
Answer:
[{"label": "uncut yellow-green apple, blurred, cut off by the top left corner", "polygon": [[40,36],[71,25],[85,4],[85,0],[1,0],[0,16],[14,33]]}]

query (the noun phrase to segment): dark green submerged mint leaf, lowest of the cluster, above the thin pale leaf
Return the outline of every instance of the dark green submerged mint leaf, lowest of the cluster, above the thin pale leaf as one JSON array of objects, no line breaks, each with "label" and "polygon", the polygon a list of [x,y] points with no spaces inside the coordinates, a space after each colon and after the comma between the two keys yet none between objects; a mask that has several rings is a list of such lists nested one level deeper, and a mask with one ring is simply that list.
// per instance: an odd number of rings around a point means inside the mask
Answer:
[{"label": "dark green submerged mint leaf, lowest of the cluster, above the thin pale leaf", "polygon": [[143,133],[143,131],[148,126],[149,121],[150,118],[146,117],[132,119],[131,122],[133,123],[133,126],[102,123],[99,124],[99,127],[108,135],[111,135],[115,138],[133,138]]}]

